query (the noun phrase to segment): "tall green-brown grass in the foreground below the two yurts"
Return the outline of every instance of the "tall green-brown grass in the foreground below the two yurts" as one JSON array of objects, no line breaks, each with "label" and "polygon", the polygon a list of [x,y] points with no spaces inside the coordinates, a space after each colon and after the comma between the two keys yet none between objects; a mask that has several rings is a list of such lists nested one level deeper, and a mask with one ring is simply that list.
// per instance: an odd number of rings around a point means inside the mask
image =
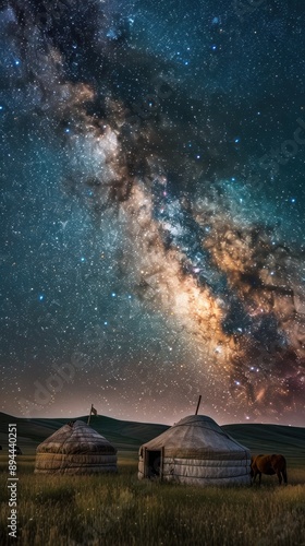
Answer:
[{"label": "tall green-brown grass in the foreground below the two yurts", "polygon": [[[22,546],[207,545],[305,546],[305,470],[289,485],[263,476],[260,487],[216,488],[137,480],[136,462],[117,475],[33,474],[19,470]],[[0,544],[8,539],[8,474],[0,475]]]}]

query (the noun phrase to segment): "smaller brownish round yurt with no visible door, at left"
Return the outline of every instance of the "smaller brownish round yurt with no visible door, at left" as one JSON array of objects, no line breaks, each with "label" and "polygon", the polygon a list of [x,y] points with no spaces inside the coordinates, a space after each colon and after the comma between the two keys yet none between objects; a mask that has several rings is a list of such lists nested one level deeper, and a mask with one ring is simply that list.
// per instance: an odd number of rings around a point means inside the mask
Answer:
[{"label": "smaller brownish round yurt with no visible door, at left", "polygon": [[82,420],[68,423],[36,449],[35,473],[117,472],[117,449]]}]

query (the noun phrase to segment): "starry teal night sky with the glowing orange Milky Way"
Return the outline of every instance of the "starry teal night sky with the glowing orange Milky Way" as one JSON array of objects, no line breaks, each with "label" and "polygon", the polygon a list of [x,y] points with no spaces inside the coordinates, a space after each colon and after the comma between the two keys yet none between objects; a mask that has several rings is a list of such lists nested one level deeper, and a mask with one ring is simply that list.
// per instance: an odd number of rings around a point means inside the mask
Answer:
[{"label": "starry teal night sky with the glowing orange Milky Way", "polygon": [[304,426],[305,8],[0,1],[0,410]]}]

